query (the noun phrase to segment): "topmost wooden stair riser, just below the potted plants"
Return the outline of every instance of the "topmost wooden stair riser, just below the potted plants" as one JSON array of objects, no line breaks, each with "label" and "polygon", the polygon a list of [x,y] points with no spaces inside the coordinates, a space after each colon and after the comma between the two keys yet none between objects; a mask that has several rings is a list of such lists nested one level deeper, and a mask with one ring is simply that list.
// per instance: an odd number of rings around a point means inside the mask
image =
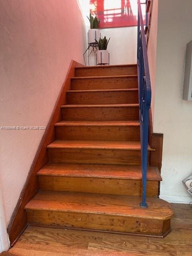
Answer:
[{"label": "topmost wooden stair riser, just below the potted plants", "polygon": [[137,66],[76,68],[76,76],[128,76],[137,74]]}]

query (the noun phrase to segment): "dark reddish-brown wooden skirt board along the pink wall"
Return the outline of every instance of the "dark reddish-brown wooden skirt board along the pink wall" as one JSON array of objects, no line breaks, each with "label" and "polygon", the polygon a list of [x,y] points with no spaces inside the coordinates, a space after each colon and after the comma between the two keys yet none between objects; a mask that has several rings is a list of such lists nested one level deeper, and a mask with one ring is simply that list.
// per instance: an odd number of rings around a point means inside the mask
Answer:
[{"label": "dark reddish-brown wooden skirt board along the pink wall", "polygon": [[71,90],[71,77],[75,75],[75,66],[82,65],[78,62],[75,62],[74,60],[72,60],[70,64],[64,84],[62,85],[52,115],[47,124],[46,131],[44,133],[44,136],[42,137],[36,155],[34,156],[34,161],[30,168],[28,178],[18,198],[18,203],[10,219],[10,223],[8,225],[8,235],[11,245],[13,245],[17,241],[22,231],[26,228],[27,215],[26,211],[24,210],[24,206],[39,190],[38,178],[36,176],[36,173],[42,168],[42,166],[44,166],[48,162],[48,152],[46,146],[55,140],[54,124],[61,120],[60,106],[62,104],[66,104],[66,91]]}]

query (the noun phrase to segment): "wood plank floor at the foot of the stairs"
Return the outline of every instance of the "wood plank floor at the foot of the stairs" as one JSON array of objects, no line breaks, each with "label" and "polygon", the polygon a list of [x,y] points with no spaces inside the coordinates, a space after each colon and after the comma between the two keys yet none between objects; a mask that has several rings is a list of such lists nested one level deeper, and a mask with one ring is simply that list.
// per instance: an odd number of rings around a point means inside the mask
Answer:
[{"label": "wood plank floor at the foot of the stairs", "polygon": [[9,252],[18,256],[192,256],[192,208],[171,204],[164,239],[28,226]]}]

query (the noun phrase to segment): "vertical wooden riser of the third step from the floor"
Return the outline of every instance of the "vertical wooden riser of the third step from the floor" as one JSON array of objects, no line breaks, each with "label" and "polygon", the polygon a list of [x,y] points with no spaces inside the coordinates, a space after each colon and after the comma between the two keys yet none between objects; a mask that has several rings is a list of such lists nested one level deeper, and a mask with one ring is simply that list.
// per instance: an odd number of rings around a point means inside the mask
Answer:
[{"label": "vertical wooden riser of the third step from the floor", "polygon": [[[140,150],[48,148],[50,162],[87,164],[141,164]],[[149,160],[150,152],[148,152]]]}]

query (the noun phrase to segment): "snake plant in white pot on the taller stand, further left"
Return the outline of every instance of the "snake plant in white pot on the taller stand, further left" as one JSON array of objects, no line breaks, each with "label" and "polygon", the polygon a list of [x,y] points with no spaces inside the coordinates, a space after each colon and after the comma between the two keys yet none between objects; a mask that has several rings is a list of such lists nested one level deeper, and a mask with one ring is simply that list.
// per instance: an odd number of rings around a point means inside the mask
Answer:
[{"label": "snake plant in white pot on the taller stand, further left", "polygon": [[88,31],[89,43],[96,44],[96,41],[98,41],[100,38],[100,31],[98,29],[100,19],[98,19],[97,16],[95,16],[95,18],[93,18],[93,16],[91,16],[91,14],[90,14],[90,17],[87,16],[87,18],[90,21],[90,30]]}]

